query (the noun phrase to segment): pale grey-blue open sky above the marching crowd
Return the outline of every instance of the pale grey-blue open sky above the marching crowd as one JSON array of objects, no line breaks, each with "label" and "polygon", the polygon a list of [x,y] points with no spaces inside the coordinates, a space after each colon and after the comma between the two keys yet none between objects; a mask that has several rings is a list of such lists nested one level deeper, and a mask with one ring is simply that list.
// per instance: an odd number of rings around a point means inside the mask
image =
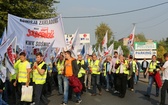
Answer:
[{"label": "pale grey-blue open sky above the marching crowd", "polygon": [[[124,12],[167,2],[167,0],[60,0],[55,4],[62,17],[103,15]],[[136,23],[135,34],[143,33],[147,39],[161,40],[168,37],[168,3],[127,14],[97,18],[63,18],[66,34],[90,33],[91,44],[96,43],[95,29],[106,23],[114,33],[115,40],[127,37]]]}]

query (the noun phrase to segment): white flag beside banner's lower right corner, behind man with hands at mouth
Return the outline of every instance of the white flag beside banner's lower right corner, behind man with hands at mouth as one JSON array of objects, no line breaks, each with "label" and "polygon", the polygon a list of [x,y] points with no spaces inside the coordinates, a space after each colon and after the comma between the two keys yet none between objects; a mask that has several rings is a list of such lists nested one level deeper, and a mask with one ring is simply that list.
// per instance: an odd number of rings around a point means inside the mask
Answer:
[{"label": "white flag beside banner's lower right corner, behind man with hands at mouth", "polygon": [[49,64],[51,63],[50,54],[52,53],[52,46],[54,41],[48,46],[48,48],[44,51],[44,61]]}]

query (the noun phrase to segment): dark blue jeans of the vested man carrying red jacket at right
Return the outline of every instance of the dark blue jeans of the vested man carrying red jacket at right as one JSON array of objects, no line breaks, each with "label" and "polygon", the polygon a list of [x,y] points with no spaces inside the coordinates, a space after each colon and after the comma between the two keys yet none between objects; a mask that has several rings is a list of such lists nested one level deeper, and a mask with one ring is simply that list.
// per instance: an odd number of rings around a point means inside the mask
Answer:
[{"label": "dark blue jeans of the vested man carrying red jacket at right", "polygon": [[[155,78],[153,75],[149,75],[149,83],[147,88],[147,95],[151,95],[152,84],[155,82]],[[156,95],[159,95],[159,87],[156,85]]]}]

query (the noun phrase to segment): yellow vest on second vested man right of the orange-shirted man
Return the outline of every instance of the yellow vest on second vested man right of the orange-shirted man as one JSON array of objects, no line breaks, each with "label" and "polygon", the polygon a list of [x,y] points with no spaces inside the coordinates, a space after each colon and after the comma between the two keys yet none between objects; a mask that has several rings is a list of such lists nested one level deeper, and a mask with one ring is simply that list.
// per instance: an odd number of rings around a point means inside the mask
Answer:
[{"label": "yellow vest on second vested man right of the orange-shirted man", "polygon": [[96,61],[91,61],[90,63],[90,66],[91,66],[91,70],[92,70],[92,74],[100,74],[100,71],[99,71],[99,60],[96,60]]}]

